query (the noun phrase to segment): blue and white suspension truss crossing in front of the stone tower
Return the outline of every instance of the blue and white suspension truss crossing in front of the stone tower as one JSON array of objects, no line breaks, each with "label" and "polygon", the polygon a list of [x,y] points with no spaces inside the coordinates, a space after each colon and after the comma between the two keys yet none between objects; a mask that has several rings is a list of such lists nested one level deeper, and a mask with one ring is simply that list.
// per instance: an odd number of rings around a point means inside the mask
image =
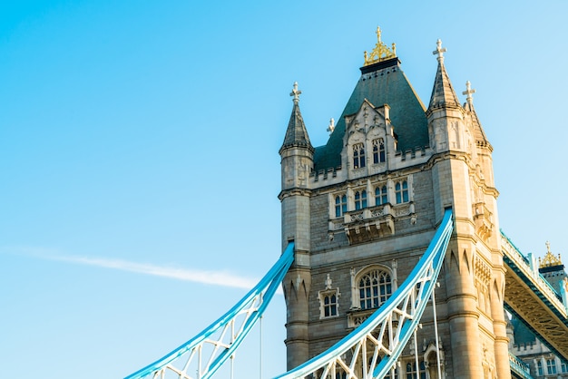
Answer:
[{"label": "blue and white suspension truss crossing in front of the stone tower", "polygon": [[276,379],[370,379],[389,374],[434,296],[452,230],[452,211],[447,209],[426,253],[383,306],[336,345]]}]

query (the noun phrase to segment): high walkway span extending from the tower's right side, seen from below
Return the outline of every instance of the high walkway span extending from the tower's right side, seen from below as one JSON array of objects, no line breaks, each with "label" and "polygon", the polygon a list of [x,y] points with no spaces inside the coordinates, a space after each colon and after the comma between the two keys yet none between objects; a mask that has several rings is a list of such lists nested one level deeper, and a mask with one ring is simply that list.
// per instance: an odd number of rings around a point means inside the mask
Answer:
[{"label": "high walkway span extending from the tower's right side, seen from below", "polygon": [[568,362],[568,312],[561,296],[545,281],[538,268],[501,232],[504,253],[505,308],[524,322],[554,354]]}]

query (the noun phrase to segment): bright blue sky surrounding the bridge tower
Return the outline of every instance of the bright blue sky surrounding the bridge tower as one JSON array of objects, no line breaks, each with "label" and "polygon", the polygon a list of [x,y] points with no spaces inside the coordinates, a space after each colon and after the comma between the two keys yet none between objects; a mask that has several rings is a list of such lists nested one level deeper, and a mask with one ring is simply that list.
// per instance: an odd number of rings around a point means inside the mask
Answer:
[{"label": "bright blue sky surrounding the bridge tower", "polygon": [[[426,104],[442,39],[495,148],[501,228],[568,263],[566,15],[560,0],[2,2],[3,375],[121,378],[240,299],[280,253],[292,84],[324,144],[377,25]],[[285,371],[284,322],[276,296],[265,377]],[[236,378],[258,377],[251,338]]]}]

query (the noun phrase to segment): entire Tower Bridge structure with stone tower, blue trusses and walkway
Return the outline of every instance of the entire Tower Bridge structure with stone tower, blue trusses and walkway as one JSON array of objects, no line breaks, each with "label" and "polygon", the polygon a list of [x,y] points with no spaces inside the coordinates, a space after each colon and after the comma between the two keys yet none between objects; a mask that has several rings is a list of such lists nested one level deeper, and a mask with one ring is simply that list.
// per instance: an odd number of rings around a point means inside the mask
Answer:
[{"label": "entire Tower Bridge structure with stone tower, blue trusses and walkway", "polygon": [[309,140],[294,84],[279,150],[278,262],[226,315],[129,379],[211,377],[280,284],[288,371],[279,378],[541,377],[542,366],[510,353],[507,311],[568,377],[568,280],[551,287],[499,231],[475,90],[466,83],[459,102],[438,40],[426,107],[381,35],[323,146]]}]

